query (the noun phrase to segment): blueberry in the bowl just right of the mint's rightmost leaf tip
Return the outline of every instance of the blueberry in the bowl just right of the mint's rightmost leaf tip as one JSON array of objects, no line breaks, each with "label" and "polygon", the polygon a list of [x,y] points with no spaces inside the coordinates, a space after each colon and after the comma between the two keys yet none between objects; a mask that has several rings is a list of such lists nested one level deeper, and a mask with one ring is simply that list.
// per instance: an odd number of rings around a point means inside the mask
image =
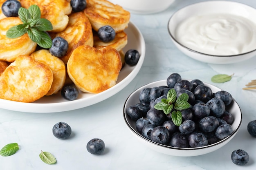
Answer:
[{"label": "blueberry in the bowl just right of the mint's rightmost leaf tip", "polygon": [[211,109],[204,103],[195,104],[192,108],[194,115],[200,119],[207,117],[211,113]]}]

